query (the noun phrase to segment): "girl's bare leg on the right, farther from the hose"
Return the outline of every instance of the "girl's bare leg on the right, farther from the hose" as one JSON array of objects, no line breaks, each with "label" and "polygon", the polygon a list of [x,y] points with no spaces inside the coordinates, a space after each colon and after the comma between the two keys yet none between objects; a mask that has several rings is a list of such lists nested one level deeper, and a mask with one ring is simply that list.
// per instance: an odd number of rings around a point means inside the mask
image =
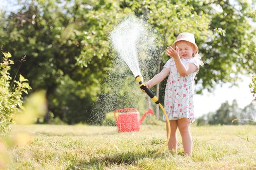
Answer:
[{"label": "girl's bare leg on the right, farther from the hose", "polygon": [[181,118],[177,120],[178,130],[182,138],[182,144],[184,148],[184,153],[190,156],[192,153],[192,136],[189,131],[189,119]]}]

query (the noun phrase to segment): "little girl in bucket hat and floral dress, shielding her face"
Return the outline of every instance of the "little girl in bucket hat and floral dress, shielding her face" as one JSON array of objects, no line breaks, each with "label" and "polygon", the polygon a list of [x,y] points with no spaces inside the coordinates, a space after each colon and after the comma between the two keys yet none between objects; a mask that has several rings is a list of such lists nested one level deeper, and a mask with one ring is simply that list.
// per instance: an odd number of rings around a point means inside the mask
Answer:
[{"label": "little girl in bucket hat and floral dress, shielding her face", "polygon": [[[170,151],[177,152],[176,131],[178,127],[184,153],[191,155],[192,137],[189,131],[189,124],[195,121],[193,102],[195,76],[199,70],[199,65],[203,66],[201,57],[198,54],[194,34],[179,34],[172,47],[167,47],[166,53],[172,58],[145,85],[151,88],[169,75],[164,96],[164,109],[171,124],[171,137],[168,147]],[[163,117],[163,120],[166,120],[165,117]],[[167,120],[166,129],[168,134]]]}]

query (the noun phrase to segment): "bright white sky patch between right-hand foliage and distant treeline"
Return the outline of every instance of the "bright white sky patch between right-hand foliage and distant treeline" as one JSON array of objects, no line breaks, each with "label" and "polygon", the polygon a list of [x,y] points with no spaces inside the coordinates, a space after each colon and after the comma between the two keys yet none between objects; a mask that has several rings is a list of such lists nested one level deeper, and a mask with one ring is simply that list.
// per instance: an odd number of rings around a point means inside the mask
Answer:
[{"label": "bright white sky patch between right-hand foliage and distant treeline", "polygon": [[230,87],[230,84],[227,83],[222,86],[217,85],[212,93],[203,90],[203,95],[196,94],[194,98],[194,112],[196,117],[198,118],[208,112],[216,111],[223,102],[228,101],[231,104],[234,99],[236,99],[240,108],[244,108],[244,106],[250,104],[253,101],[253,94],[249,88],[252,78],[243,76],[242,79],[239,86]]}]

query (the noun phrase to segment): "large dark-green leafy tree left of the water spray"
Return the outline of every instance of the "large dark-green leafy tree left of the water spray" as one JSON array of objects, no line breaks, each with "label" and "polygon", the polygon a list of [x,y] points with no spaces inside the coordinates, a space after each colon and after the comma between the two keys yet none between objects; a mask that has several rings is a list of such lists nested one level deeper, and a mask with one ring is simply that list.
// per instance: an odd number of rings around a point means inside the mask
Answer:
[{"label": "large dark-green leafy tree left of the water spray", "polygon": [[48,109],[55,117],[63,119],[67,109],[78,108],[63,101],[67,98],[61,98],[56,91],[64,88],[62,83],[75,81],[76,86],[60,91],[74,95],[75,101],[88,103],[80,104],[82,114],[88,118],[89,105],[96,99],[103,72],[111,65],[107,58],[107,33],[118,21],[114,19],[119,10],[117,3],[33,0],[20,1],[20,5],[20,10],[1,19],[3,50],[11,51],[17,57],[15,62],[20,55],[27,55],[20,71],[29,78],[34,90],[46,89]]}]

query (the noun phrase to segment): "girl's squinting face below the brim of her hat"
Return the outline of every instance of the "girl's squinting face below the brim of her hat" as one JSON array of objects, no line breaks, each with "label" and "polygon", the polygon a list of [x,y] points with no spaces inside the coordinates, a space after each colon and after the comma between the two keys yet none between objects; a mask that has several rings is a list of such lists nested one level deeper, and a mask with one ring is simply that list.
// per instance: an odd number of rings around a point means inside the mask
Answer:
[{"label": "girl's squinting face below the brim of her hat", "polygon": [[178,41],[176,45],[178,47],[178,55],[180,58],[192,58],[194,52],[193,44],[187,41]]}]

